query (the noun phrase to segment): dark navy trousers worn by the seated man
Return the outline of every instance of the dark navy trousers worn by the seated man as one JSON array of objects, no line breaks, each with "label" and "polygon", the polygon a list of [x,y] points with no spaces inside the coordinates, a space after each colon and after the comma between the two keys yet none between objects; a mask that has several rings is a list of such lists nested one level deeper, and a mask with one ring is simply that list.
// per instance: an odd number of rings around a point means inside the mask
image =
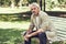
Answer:
[{"label": "dark navy trousers worn by the seated man", "polygon": [[[33,33],[33,32],[35,32],[35,31],[32,31],[31,33]],[[46,44],[46,42],[47,42],[46,34],[42,32],[35,36],[30,37],[29,41],[24,41],[24,44],[31,44],[31,38],[33,38],[33,37],[37,37],[40,40],[40,44]]]}]

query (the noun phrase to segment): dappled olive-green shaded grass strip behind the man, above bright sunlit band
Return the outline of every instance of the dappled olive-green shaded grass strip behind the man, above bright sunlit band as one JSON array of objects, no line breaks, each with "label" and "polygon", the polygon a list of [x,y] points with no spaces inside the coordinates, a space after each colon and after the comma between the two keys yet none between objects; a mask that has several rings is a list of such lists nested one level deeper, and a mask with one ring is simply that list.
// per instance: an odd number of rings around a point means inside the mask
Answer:
[{"label": "dappled olive-green shaded grass strip behind the man, above bright sunlit band", "polygon": [[30,16],[23,16],[22,14],[0,14],[0,21],[28,21]]}]

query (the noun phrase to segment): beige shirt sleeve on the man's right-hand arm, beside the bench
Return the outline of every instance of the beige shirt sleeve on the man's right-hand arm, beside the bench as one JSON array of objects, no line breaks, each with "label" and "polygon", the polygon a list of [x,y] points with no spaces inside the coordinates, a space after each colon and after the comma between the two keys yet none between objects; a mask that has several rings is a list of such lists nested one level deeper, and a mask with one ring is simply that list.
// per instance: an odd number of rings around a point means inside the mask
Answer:
[{"label": "beige shirt sleeve on the man's right-hand arm, beside the bench", "polygon": [[43,29],[43,31],[45,32],[48,28],[48,23],[50,23],[50,18],[46,13],[43,13],[41,16],[42,20],[42,24],[40,25],[40,29]]}]

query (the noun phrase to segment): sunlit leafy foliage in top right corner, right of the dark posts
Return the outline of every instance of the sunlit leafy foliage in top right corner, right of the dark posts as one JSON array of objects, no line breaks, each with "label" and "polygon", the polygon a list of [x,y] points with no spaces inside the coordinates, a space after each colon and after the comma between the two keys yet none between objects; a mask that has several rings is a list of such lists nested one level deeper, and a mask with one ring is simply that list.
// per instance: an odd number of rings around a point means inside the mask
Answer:
[{"label": "sunlit leafy foliage in top right corner, right of the dark posts", "polygon": [[66,0],[45,0],[46,2],[46,9],[52,10],[52,9],[66,9]]}]

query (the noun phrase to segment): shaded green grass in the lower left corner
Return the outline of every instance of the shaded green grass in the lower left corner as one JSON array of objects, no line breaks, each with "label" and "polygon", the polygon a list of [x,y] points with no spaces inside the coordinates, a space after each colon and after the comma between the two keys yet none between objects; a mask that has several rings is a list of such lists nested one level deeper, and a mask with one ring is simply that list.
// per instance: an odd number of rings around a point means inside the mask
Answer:
[{"label": "shaded green grass in the lower left corner", "polygon": [[21,32],[23,32],[23,30],[0,29],[0,44],[21,44]]}]

